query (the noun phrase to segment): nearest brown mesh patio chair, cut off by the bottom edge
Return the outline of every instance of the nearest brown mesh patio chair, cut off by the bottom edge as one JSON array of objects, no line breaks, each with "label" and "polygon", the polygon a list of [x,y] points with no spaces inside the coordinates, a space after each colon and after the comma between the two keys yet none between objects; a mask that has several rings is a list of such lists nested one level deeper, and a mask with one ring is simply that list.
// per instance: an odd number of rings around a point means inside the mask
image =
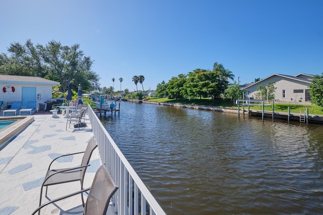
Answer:
[{"label": "nearest brown mesh patio chair, cut off by the bottom edge", "polygon": [[[106,171],[103,164],[96,171],[90,188],[82,189],[80,191],[71,193],[69,195],[48,201],[43,205],[39,206],[35,211],[33,211],[32,215],[37,213],[37,211],[38,213],[40,213],[40,209],[48,204],[61,201],[63,199],[69,198],[74,195],[78,195],[88,190],[89,190],[89,195],[86,199],[85,206],[83,205],[84,210],[81,211],[81,214],[105,215],[107,211],[107,207],[109,207],[110,200],[112,196],[115,194],[115,192],[118,190],[118,187],[113,181],[109,172]],[[73,212],[72,214],[75,214],[75,212]]]}]

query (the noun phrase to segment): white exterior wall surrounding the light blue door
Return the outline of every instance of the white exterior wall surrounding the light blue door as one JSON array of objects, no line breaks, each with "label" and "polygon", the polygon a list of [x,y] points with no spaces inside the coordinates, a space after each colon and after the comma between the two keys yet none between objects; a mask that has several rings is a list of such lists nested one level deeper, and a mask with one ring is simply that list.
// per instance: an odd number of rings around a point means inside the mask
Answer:
[{"label": "white exterior wall surrounding the light blue door", "polygon": [[[6,85],[12,85],[15,88],[15,92],[7,94],[3,92],[3,88]],[[36,95],[35,101],[37,102],[36,107],[39,107],[39,103],[44,103],[47,99],[52,98],[52,86],[51,85],[36,85],[36,84],[10,84],[0,83],[0,101],[4,101],[4,106],[7,106],[7,102],[22,101],[22,87],[35,87]],[[40,100],[37,100],[37,94],[40,94]]]}]

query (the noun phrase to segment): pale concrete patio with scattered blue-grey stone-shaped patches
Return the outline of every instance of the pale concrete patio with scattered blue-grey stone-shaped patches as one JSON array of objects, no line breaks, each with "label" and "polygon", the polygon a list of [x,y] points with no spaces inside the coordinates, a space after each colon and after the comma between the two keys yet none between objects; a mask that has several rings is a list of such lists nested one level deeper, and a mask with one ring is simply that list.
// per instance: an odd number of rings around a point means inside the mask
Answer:
[{"label": "pale concrete patio with scattered blue-grey stone-shaped patches", "polygon": [[[0,214],[31,214],[38,207],[40,186],[50,162],[64,154],[84,151],[93,136],[88,116],[86,127],[65,130],[67,119],[63,115],[33,115],[34,121],[23,129],[0,151]],[[79,166],[82,154],[58,160],[53,168]],[[98,149],[92,154],[90,167],[85,175],[84,188],[92,183],[101,164]],[[80,190],[79,182],[48,187],[48,198],[54,199]],[[85,194],[86,196],[86,194]],[[43,195],[42,202],[46,202]],[[81,196],[48,205],[41,214],[63,214],[81,205]],[[81,207],[82,209],[82,207]]]}]

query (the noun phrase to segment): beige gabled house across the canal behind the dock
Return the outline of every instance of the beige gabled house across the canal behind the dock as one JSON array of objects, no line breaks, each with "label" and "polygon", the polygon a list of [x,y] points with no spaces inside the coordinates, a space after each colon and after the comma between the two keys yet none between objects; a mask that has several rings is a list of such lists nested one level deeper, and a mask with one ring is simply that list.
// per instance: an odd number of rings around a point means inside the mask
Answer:
[{"label": "beige gabled house across the canal behind the dock", "polygon": [[[308,86],[313,80],[313,75],[299,74],[297,76],[288,76],[281,74],[274,74],[259,82],[246,85],[241,90],[246,90],[245,98],[254,99],[258,87],[267,86],[268,83],[275,82],[275,100],[283,102],[309,102],[311,96],[309,95]],[[262,100],[266,99],[266,95],[262,95]]]}]

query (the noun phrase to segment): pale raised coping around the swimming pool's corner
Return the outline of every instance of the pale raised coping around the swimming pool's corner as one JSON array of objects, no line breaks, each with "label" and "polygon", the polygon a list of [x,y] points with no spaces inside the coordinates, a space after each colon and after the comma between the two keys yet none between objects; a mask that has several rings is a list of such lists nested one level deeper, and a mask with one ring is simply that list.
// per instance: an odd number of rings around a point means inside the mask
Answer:
[{"label": "pale raised coping around the swimming pool's corner", "polygon": [[5,130],[0,132],[0,147],[10,140],[13,136],[18,134],[23,128],[34,121],[34,116],[9,116],[0,117],[1,120],[17,120],[21,119],[12,125],[8,126]]}]

